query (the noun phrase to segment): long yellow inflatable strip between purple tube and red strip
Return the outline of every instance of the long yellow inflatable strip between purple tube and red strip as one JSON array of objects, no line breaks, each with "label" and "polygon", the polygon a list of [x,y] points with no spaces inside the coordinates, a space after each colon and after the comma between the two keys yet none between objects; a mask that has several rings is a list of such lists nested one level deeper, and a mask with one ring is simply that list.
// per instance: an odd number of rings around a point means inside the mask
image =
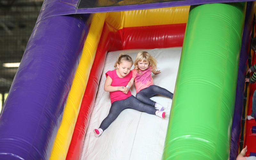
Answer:
[{"label": "long yellow inflatable strip between purple tube and red strip", "polygon": [[81,60],[76,70],[62,122],[53,144],[52,154],[50,157],[51,160],[66,159],[68,147],[76,125],[81,100],[84,96],[85,87],[100,40],[105,17],[106,13],[95,13],[92,15],[92,23],[86,41],[84,42]]}]

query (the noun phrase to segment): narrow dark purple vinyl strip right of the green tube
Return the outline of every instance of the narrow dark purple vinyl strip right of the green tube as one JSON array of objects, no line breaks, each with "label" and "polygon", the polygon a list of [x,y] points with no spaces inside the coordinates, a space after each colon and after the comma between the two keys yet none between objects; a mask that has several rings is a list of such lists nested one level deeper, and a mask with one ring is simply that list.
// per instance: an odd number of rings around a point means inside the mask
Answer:
[{"label": "narrow dark purple vinyl strip right of the green tube", "polygon": [[238,77],[236,85],[236,102],[234,117],[232,122],[232,131],[231,131],[231,143],[230,143],[230,160],[236,159],[238,155],[238,147],[241,133],[241,119],[243,113],[243,100],[244,100],[244,82],[246,75],[247,59],[248,59],[248,50],[250,48],[251,40],[251,25],[252,25],[252,2],[247,2],[245,22],[244,22],[244,31],[243,31],[243,40],[242,47],[240,52],[240,60],[238,67]]}]

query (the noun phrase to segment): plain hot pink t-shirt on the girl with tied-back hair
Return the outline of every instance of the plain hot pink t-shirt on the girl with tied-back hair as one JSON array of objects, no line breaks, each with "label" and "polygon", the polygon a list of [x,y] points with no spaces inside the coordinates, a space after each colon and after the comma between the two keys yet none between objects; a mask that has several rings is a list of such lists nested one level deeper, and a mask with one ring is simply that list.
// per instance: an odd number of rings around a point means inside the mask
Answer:
[{"label": "plain hot pink t-shirt on the girl with tied-back hair", "polygon": [[[130,72],[125,77],[120,78],[119,76],[117,76],[116,70],[111,70],[106,73],[106,77],[107,76],[110,76],[110,78],[112,79],[111,86],[114,86],[114,87],[126,86],[129,83],[129,81],[132,79],[132,72]],[[117,100],[125,100],[131,95],[132,93],[130,91],[128,91],[127,94],[123,93],[122,91],[109,92],[111,104]]]}]

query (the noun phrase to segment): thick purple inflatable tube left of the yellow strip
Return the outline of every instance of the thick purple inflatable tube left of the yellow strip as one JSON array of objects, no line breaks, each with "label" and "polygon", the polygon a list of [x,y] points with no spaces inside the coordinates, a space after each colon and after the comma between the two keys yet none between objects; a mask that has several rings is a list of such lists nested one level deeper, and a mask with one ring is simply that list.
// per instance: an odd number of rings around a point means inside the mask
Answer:
[{"label": "thick purple inflatable tube left of the yellow strip", "polygon": [[36,23],[0,114],[0,159],[50,158],[88,16],[52,16]]}]

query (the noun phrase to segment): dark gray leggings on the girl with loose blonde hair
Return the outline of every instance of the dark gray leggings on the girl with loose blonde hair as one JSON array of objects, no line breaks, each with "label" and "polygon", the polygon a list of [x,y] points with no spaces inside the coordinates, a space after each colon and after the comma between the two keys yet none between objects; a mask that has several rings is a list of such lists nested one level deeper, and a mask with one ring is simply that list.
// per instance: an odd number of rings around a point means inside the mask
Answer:
[{"label": "dark gray leggings on the girl with loose blonde hair", "polygon": [[150,98],[156,94],[161,94],[171,99],[173,98],[172,92],[169,92],[168,90],[162,87],[159,87],[157,85],[150,85],[148,88],[144,88],[143,90],[140,90],[140,92],[136,94],[136,98],[140,100],[142,103],[155,107],[156,102],[153,100],[150,100]]}]

